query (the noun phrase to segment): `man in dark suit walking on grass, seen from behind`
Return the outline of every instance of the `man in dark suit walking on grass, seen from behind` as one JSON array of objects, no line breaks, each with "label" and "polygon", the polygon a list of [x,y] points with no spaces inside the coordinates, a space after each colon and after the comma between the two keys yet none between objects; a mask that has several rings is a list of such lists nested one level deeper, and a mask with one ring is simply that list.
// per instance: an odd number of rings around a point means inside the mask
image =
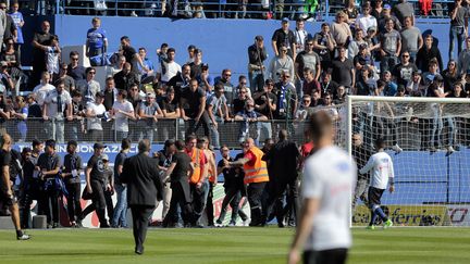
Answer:
[{"label": "man in dark suit walking on grass, seen from behind", "polygon": [[148,219],[153,213],[157,200],[161,201],[162,183],[159,168],[149,156],[150,141],[144,139],[138,143],[138,154],[126,159],[121,183],[127,184],[127,204],[133,214],[135,252],[144,253],[144,241],[147,235]]}]

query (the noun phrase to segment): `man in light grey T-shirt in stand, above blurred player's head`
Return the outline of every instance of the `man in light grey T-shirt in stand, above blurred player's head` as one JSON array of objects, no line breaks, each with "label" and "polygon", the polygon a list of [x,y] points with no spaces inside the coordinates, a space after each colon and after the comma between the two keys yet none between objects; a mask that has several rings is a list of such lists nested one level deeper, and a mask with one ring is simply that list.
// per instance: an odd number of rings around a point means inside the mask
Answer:
[{"label": "man in light grey T-shirt in stand, above blurred player's head", "polygon": [[313,51],[313,39],[308,39],[306,42],[306,49],[300,51],[296,58],[295,62],[295,73],[296,73],[296,88],[299,97],[304,95],[302,83],[306,81],[304,75],[304,70],[310,68],[313,74],[314,80],[318,80],[321,73],[321,62],[320,56]]}]

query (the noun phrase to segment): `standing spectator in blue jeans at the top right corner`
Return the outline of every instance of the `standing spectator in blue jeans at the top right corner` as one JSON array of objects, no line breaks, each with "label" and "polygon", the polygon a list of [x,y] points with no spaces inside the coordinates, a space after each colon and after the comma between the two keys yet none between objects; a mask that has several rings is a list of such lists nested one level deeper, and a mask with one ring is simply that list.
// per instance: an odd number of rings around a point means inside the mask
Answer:
[{"label": "standing spectator in blue jeans at the top right corner", "polygon": [[462,7],[462,0],[455,0],[454,10],[450,12],[450,30],[449,30],[449,59],[456,58],[454,54],[454,45],[457,39],[457,56],[460,55],[463,47],[463,40],[468,35],[468,17],[470,11],[468,7]]}]

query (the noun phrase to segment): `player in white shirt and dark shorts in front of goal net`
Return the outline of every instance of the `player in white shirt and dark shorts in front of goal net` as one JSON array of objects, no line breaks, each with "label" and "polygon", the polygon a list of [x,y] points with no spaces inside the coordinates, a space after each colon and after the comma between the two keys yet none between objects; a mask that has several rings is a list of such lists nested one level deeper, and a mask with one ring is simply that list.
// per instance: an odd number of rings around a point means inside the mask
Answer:
[{"label": "player in white shirt and dark shorts in front of goal net", "polygon": [[368,229],[374,229],[374,223],[380,216],[384,223],[384,228],[393,226],[393,223],[380,208],[381,198],[389,181],[389,192],[395,191],[394,185],[394,167],[392,158],[384,152],[385,141],[382,138],[375,140],[375,149],[378,152],[369,158],[368,163],[359,171],[360,174],[371,174],[371,183],[369,186],[369,208],[371,210],[371,222]]}]

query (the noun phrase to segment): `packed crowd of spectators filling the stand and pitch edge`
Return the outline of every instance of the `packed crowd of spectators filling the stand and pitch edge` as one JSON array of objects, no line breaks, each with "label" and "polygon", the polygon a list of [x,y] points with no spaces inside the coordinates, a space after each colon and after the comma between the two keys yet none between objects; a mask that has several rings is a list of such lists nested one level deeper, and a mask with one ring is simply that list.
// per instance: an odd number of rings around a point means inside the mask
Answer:
[{"label": "packed crowd of spectators filling the stand and pitch edge", "polygon": [[[264,225],[274,204],[280,214],[279,225],[283,226],[285,218],[295,225],[295,217],[290,217],[295,213],[290,212],[295,212],[297,208],[297,169],[301,167],[301,154],[293,142],[289,142],[288,147],[292,148],[292,152],[288,152],[290,154],[279,154],[284,152],[275,151],[275,146],[287,142],[290,128],[279,134],[280,142],[274,144],[273,152],[277,155],[270,154],[270,140],[274,129],[271,121],[307,120],[309,113],[316,109],[326,109],[333,120],[341,120],[337,105],[345,102],[347,95],[468,98],[470,92],[468,2],[456,0],[452,12],[452,45],[448,50],[450,60],[446,67],[433,36],[421,33],[415,26],[415,10],[406,0],[394,7],[383,4],[382,1],[374,4],[363,2],[360,9],[352,2],[349,1],[344,11],[337,12],[333,23],[323,23],[318,33],[308,33],[302,18],[297,20],[295,28],[292,28],[289,18],[284,17],[281,20],[281,28],[273,33],[270,40],[265,41],[263,36],[255,36],[255,43],[247,47],[248,75],[239,76],[236,86],[228,67],[222,70],[220,76],[211,76],[209,64],[202,58],[203,52],[211,51],[202,51],[193,45],[187,49],[187,58],[181,59],[176,56],[177,51],[171,48],[171,45],[162,43],[157,50],[159,61],[151,62],[145,47],[136,49],[132,40],[123,36],[120,39],[120,50],[108,58],[106,25],[101,25],[99,17],[92,18],[92,27],[87,33],[86,56],[92,66],[85,68],[78,63],[84,59],[79,58],[78,52],[61,53],[60,40],[50,33],[50,24],[45,21],[41,30],[35,34],[30,43],[34,48],[33,74],[29,78],[33,90],[26,98],[18,96],[17,89],[23,76],[20,47],[24,43],[20,36],[24,22],[17,12],[16,2],[12,4],[11,14],[5,12],[5,2],[0,2],[0,18],[13,23],[1,30],[4,45],[0,55],[0,115],[2,121],[16,121],[14,125],[0,125],[1,129],[3,133],[17,135],[13,140],[25,140],[26,120],[41,118],[44,129],[50,136],[45,142],[45,153],[41,153],[44,142],[39,140],[34,140],[32,148],[25,148],[22,152],[24,177],[33,179],[32,183],[37,181],[37,186],[32,187],[29,192],[24,192],[23,208],[27,211],[32,199],[39,199],[40,211],[48,215],[49,226],[58,227],[57,204],[60,192],[54,188],[45,190],[44,184],[53,184],[55,175],[61,173],[67,179],[64,188],[70,196],[67,201],[71,225],[79,226],[86,214],[79,209],[82,193],[76,175],[79,175],[83,168],[75,149],[76,141],[84,140],[86,133],[89,141],[97,142],[94,161],[90,160],[85,169],[87,190],[99,193],[92,196],[95,208],[88,211],[96,210],[101,226],[107,227],[109,223],[104,216],[104,208],[108,206],[111,226],[125,227],[122,213],[126,208],[123,205],[126,200],[125,186],[121,185],[116,177],[122,173],[120,162],[115,162],[112,173],[107,166],[109,159],[102,154],[102,122],[113,120],[114,141],[122,142],[122,153],[125,155],[129,140],[153,141],[159,120],[181,120],[188,124],[186,142],[165,142],[165,149],[156,155],[160,169],[180,169],[181,175],[189,169],[187,163],[193,163],[199,164],[200,172],[189,186],[177,187],[174,187],[174,183],[180,179],[173,178],[176,174],[162,174],[171,181],[165,187],[166,194],[170,189],[178,189],[173,196],[165,196],[166,217],[163,225],[177,225],[178,210],[174,208],[176,204],[181,206],[186,225],[200,226],[199,219],[205,209],[209,211],[209,225],[222,223],[222,219],[214,223],[213,213],[210,212],[213,208],[210,193],[220,173],[226,177],[225,188],[227,193],[231,193],[228,197],[232,197],[224,201],[223,213],[227,204],[238,208],[235,204],[245,194],[244,184],[249,184],[247,192],[251,206],[250,225]],[[454,51],[455,41],[458,42],[457,52]],[[267,59],[269,46],[275,54],[271,60]],[[455,53],[458,55],[454,55]],[[71,63],[63,63],[63,56],[69,56]],[[182,65],[178,62],[184,63]],[[111,66],[104,84],[100,84],[95,79],[95,75],[97,67],[103,65]],[[358,123],[370,123],[362,120],[367,116],[356,118]],[[239,123],[238,141],[243,143],[245,151],[245,154],[234,161],[227,155],[228,148],[221,143],[219,134],[220,127],[227,122]],[[391,125],[380,117],[371,123],[373,127]],[[446,124],[454,126],[453,121]],[[424,125],[432,127],[432,136],[429,136],[430,140],[425,142],[426,148],[435,150],[444,147],[441,139],[434,140],[443,129],[442,120],[433,120]],[[256,127],[255,134],[250,126]],[[205,137],[195,137],[194,134],[201,127]],[[363,135],[364,128],[360,128],[363,126],[357,127],[355,133]],[[374,136],[389,136],[382,135],[385,133],[383,130],[385,129],[379,129]],[[69,155],[61,164],[55,153],[55,143],[65,142],[65,131],[72,131],[67,133],[71,141],[67,143]],[[394,150],[400,152],[396,137],[392,140]],[[264,143],[264,149],[258,149],[257,146],[263,141],[268,142]],[[282,150],[286,148],[283,146]],[[446,148],[453,152],[453,142],[448,142]],[[210,149],[221,151],[224,158],[221,163],[215,164]],[[180,152],[188,155],[177,154]],[[16,155],[20,159],[17,153]],[[182,161],[177,158],[170,159],[169,155],[180,156]],[[261,161],[262,156],[271,162],[267,164]],[[283,162],[275,162],[280,156]],[[272,168],[285,164],[284,156],[292,158],[293,165]],[[123,156],[121,159],[124,160]],[[30,163],[28,173],[26,163]],[[182,163],[185,165],[181,165]],[[175,165],[169,169],[172,164]],[[240,169],[242,166],[245,169]],[[257,173],[250,175],[252,169]],[[260,169],[263,173],[260,173]],[[275,183],[275,175],[285,172],[283,169],[289,171],[280,177],[288,175],[288,179],[283,178],[274,184],[274,187],[265,187],[268,179],[269,183]],[[104,171],[108,172],[107,175],[114,177],[102,176]],[[94,172],[98,172],[98,176],[94,175]],[[240,176],[243,173],[245,176]],[[227,184],[230,177],[233,177],[233,186]],[[99,185],[94,185],[94,179],[99,180]],[[256,181],[250,181],[251,179]],[[271,194],[263,194],[264,189]],[[119,198],[115,209],[109,202],[114,191]],[[283,197],[285,191],[288,205],[283,208],[280,197]],[[248,221],[240,211],[237,213],[244,221]],[[234,214],[232,224],[236,219],[236,213]],[[24,217],[27,215],[27,212],[23,214]],[[24,227],[27,227],[26,223],[23,222]]]}]

